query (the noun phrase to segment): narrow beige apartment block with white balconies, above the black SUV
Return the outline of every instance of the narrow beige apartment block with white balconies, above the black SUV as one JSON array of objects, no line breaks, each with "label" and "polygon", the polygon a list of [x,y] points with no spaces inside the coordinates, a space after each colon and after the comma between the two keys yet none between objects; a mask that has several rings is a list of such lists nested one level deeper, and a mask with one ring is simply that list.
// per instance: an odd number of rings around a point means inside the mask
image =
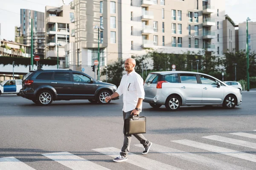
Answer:
[{"label": "narrow beige apartment block with white balconies, above the black SUV", "polygon": [[74,25],[74,10],[69,5],[59,8],[45,7],[45,28],[46,28],[46,58],[60,60],[60,68],[65,67],[64,45],[74,42],[75,37],[71,37]]}]

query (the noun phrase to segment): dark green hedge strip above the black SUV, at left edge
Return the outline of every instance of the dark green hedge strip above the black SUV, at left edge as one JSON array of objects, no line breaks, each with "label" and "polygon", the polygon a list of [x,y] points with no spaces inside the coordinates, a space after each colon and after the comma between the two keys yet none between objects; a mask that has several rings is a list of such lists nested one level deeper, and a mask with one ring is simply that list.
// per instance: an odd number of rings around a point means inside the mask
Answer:
[{"label": "dark green hedge strip above the black SUV, at left edge", "polygon": [[[12,62],[15,61],[15,65],[25,65],[29,66],[30,65],[30,58],[27,57],[6,57],[6,56],[1,56],[0,57],[0,64],[3,65],[12,65]],[[36,64],[36,61],[33,61],[34,64]],[[57,59],[40,59],[39,62],[40,65],[57,65]]]}]

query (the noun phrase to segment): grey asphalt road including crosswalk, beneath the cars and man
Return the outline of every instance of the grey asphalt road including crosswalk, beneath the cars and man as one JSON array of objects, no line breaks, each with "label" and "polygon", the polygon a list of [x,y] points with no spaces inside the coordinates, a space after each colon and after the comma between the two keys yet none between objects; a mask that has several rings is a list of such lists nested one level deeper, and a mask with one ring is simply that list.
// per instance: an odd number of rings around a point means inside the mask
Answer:
[{"label": "grey asphalt road including crosswalk, beneath the cars and man", "polygon": [[[147,118],[144,136],[153,142],[151,151],[141,155],[143,148],[134,146],[140,142],[133,137],[130,152],[135,155],[129,154],[129,162],[115,163],[112,159],[119,155],[123,142],[122,98],[108,105],[73,100],[44,107],[20,96],[1,95],[0,169],[6,164],[13,170],[3,158],[14,157],[19,168],[26,165],[36,170],[77,170],[76,165],[83,166],[80,163],[92,163],[88,167],[95,170],[99,165],[111,170],[256,170],[255,103],[256,91],[243,92],[242,105],[233,110],[191,106],[169,112],[164,106],[153,109],[143,103],[140,116]],[[247,137],[230,134],[237,132]],[[192,141],[199,143],[192,145]],[[59,152],[71,157],[54,154],[57,157],[52,160],[42,155]]]}]

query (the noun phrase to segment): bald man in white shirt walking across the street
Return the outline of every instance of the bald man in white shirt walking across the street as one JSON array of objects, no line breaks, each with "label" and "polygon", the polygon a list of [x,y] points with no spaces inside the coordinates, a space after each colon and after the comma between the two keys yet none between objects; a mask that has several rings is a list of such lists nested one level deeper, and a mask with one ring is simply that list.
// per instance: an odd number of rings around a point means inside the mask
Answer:
[{"label": "bald man in white shirt walking across the street", "polygon": [[[121,96],[123,94],[123,119],[128,119],[133,115],[140,114],[142,108],[142,101],[145,96],[143,88],[143,79],[134,71],[136,62],[135,59],[129,58],[125,60],[125,74],[120,82],[119,87],[116,92],[111,96],[106,97],[106,102],[109,100]],[[123,129],[124,131],[124,129]],[[124,132],[125,133],[125,132]],[[147,154],[152,142],[149,142],[143,134],[134,134],[134,136],[140,141],[144,146],[144,151],[142,154]],[[120,155],[113,159],[115,162],[127,161],[127,155],[130,150],[131,135],[124,135],[124,144]]]}]

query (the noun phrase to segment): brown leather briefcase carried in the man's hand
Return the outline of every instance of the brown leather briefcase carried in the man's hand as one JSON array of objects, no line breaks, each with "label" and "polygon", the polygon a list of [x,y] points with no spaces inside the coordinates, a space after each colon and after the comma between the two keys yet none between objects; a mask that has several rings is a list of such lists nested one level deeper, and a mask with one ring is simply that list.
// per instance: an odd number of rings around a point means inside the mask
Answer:
[{"label": "brown leather briefcase carried in the man's hand", "polygon": [[146,117],[132,116],[130,119],[125,119],[125,135],[133,135],[146,133]]}]

